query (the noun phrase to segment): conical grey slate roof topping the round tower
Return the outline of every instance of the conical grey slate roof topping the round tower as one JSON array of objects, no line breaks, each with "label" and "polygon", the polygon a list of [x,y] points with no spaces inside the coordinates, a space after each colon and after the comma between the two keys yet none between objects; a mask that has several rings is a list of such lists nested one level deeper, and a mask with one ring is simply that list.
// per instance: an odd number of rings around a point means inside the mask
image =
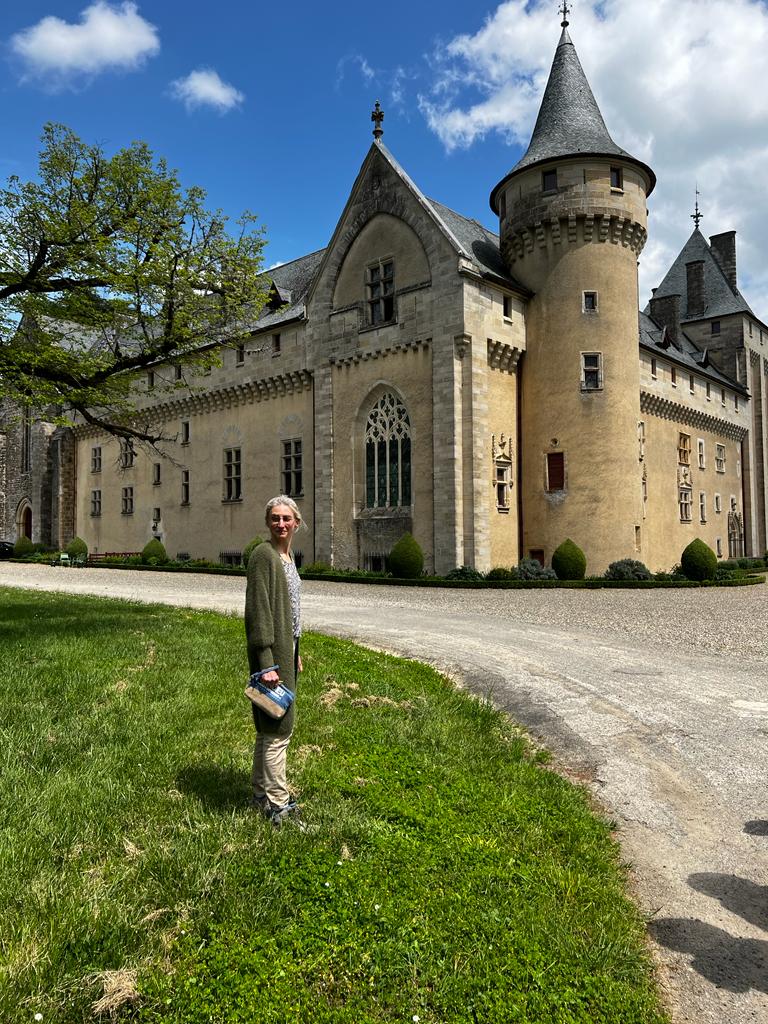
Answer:
[{"label": "conical grey slate roof topping the round tower", "polygon": [[656,183],[653,171],[616,145],[608,134],[568,30],[563,28],[530,143],[524,157],[490,194],[492,209],[497,211],[498,191],[512,175],[538,164],[579,156],[631,161],[648,175],[648,195]]}]

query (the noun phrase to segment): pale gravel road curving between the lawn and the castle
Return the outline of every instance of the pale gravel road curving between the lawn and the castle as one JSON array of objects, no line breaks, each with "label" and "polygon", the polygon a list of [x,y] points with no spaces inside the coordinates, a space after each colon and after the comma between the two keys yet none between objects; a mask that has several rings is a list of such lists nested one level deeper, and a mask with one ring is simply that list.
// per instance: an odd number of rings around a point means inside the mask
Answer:
[{"label": "pale gravel road curving between the lawn and the castle", "polygon": [[[240,613],[242,580],[0,563],[0,586]],[[429,662],[618,823],[677,1024],[768,1024],[768,586],[433,591],[308,583],[305,626]],[[1,608],[0,608],[1,615]]]}]

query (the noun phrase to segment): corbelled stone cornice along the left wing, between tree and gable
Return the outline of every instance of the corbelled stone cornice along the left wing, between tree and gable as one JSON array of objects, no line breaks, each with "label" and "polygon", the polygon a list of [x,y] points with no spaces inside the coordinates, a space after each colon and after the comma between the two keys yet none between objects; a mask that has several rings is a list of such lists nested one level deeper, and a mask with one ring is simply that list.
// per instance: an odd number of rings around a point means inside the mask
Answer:
[{"label": "corbelled stone cornice along the left wing, between tree and gable", "polygon": [[[211,413],[220,409],[232,409],[237,406],[251,404],[254,401],[265,401],[268,398],[279,398],[284,394],[296,391],[308,391],[312,386],[312,374],[308,370],[297,370],[293,373],[279,374],[256,381],[241,381],[238,384],[213,388],[210,391],[193,392],[180,397],[159,401],[137,411],[134,420],[142,423],[165,422],[183,416],[196,416],[200,413]],[[75,427],[77,437],[93,437],[103,433],[96,426],[81,424]]]}]

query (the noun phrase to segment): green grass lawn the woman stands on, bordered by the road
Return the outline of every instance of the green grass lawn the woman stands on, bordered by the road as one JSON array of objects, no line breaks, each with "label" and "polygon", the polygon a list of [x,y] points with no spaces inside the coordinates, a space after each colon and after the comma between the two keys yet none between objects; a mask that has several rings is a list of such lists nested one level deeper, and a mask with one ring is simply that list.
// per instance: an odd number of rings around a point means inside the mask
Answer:
[{"label": "green grass lawn the woman stands on, bordered by the road", "polygon": [[305,638],[300,833],[239,621],[0,590],[0,1020],[666,1020],[608,825],[433,671]]}]

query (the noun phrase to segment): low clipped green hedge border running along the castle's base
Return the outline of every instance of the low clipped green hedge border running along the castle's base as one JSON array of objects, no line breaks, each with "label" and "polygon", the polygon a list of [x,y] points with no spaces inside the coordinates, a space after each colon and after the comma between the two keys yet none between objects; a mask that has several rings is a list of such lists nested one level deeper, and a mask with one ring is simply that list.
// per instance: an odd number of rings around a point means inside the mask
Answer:
[{"label": "low clipped green hedge border running along the castle's base", "polygon": [[[8,558],[6,561],[35,565],[45,562],[30,558]],[[133,569],[136,572],[200,572],[206,575],[244,577],[247,569],[236,565],[125,565],[121,562],[87,563],[91,569]],[[66,570],[65,570],[66,571]],[[70,570],[77,571],[77,570]],[[742,570],[749,571],[749,570]],[[328,583],[367,583],[385,587],[439,587],[444,590],[670,590],[690,587],[752,587],[765,583],[764,575],[744,575],[735,580],[443,580],[426,577],[421,580],[400,580],[396,577],[345,575],[343,572],[301,572],[302,580]]]}]

